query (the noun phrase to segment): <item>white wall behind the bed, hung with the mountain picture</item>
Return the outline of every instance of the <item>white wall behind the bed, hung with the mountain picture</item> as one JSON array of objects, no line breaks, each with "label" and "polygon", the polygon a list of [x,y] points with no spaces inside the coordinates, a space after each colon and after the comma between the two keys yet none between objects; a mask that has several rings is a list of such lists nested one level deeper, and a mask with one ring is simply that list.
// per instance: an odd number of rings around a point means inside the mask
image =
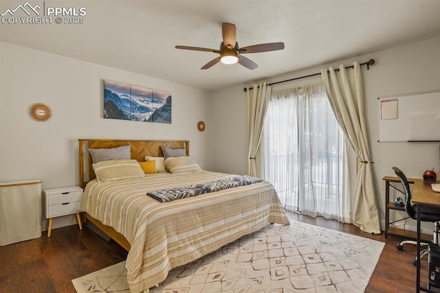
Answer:
[{"label": "white wall behind the bed, hung with the mountain picture", "polygon": [[[102,118],[103,79],[169,91],[172,123]],[[34,102],[50,106],[49,121],[30,118]],[[77,185],[78,138],[190,140],[190,155],[210,170],[211,109],[208,91],[0,42],[0,182]]]}]

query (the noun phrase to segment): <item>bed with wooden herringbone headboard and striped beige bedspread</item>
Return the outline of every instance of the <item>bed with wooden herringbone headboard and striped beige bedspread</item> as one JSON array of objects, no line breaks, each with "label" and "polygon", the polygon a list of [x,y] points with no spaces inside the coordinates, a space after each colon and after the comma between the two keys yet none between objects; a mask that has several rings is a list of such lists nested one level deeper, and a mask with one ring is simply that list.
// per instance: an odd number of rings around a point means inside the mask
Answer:
[{"label": "bed with wooden herringbone headboard and striped beige bedspread", "polygon": [[[164,281],[172,268],[199,259],[267,224],[289,224],[274,187],[265,181],[170,202],[148,196],[147,193],[238,176],[201,170],[190,157],[189,141],[81,139],[79,143],[80,186],[85,188],[80,209],[87,220],[129,251],[126,269],[131,292],[148,292]],[[96,151],[118,147],[128,147],[131,160],[104,160],[92,166]],[[162,158],[162,147],[168,155],[166,172],[123,179],[118,173],[117,180],[111,173],[112,180],[107,181],[104,175],[108,174],[98,167],[127,162],[131,168],[133,160],[144,164],[146,156]],[[177,152],[170,155],[168,151]],[[93,158],[91,152],[95,152]],[[159,170],[160,160],[153,162]]]}]

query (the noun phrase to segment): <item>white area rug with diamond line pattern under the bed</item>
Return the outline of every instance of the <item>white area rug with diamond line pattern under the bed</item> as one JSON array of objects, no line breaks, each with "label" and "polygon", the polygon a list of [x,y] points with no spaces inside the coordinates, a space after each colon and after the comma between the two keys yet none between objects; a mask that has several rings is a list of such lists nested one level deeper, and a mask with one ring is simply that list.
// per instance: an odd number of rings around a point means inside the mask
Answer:
[{"label": "white area rug with diamond line pattern under the bed", "polygon": [[[151,293],[364,292],[385,243],[291,220],[174,268]],[[78,293],[129,292],[125,263],[72,280]]]}]

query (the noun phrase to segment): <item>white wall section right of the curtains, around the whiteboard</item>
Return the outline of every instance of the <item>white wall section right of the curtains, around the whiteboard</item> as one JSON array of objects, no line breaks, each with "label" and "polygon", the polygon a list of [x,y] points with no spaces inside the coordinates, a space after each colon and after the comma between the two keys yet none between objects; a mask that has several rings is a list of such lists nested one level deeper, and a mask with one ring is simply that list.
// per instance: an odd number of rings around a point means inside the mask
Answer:
[{"label": "white wall section right of the curtains, around the whiteboard", "polygon": [[[371,56],[375,58],[377,65],[371,67],[371,73],[364,74],[366,119],[371,138],[371,153],[375,162],[379,204],[384,212],[385,184],[382,178],[394,175],[391,170],[393,166],[398,166],[407,177],[412,178],[421,178],[423,171],[432,168],[439,173],[440,142],[377,142],[377,98],[440,91],[440,38],[384,50]],[[384,216],[381,216],[384,223]],[[412,221],[408,225],[415,229]],[[423,227],[426,232],[432,230],[432,225]]]}]

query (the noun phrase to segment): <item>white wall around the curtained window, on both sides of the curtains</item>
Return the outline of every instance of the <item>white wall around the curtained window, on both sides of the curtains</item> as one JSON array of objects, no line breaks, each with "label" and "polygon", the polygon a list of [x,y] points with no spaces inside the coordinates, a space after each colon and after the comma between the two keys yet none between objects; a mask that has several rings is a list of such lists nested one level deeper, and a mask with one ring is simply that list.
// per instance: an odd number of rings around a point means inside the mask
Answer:
[{"label": "white wall around the curtained window, on both sides of the curtains", "polygon": [[[362,74],[364,79],[366,122],[371,140],[371,154],[373,162],[375,162],[373,166],[377,186],[377,199],[381,210],[380,217],[383,221],[385,184],[382,181],[382,177],[394,175],[391,170],[392,166],[399,166],[406,173],[407,177],[421,178],[423,171],[432,169],[432,167],[439,172],[440,142],[377,142],[377,98],[440,91],[440,38],[411,43],[331,64],[317,65],[281,76],[274,76],[268,79],[268,81],[276,82],[314,74],[320,72],[321,68],[338,67],[340,64],[351,65],[353,61],[363,63],[370,58],[374,58],[376,63],[368,71],[366,67],[362,67]],[[320,81],[320,76],[305,78],[274,85],[272,89],[298,87]],[[246,98],[243,87],[244,85],[216,91],[213,94],[213,123],[216,125],[216,135],[214,137],[214,153],[216,155],[213,158],[213,164],[214,169],[217,171],[245,173],[246,170],[245,159],[247,151],[244,144],[247,145],[248,124],[245,114]],[[221,111],[216,113],[216,109]],[[234,132],[232,132],[232,129]],[[221,133],[219,132],[220,130],[222,130]]]}]

